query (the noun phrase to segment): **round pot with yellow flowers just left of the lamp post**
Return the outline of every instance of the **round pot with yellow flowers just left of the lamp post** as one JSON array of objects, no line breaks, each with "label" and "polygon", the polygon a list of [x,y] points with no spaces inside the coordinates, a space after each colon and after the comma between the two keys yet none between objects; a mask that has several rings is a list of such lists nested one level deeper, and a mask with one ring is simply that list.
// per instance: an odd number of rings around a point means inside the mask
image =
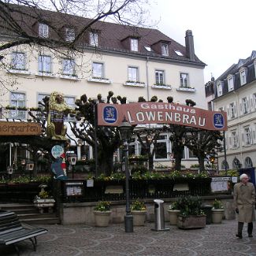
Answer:
[{"label": "round pot with yellow flowers just left of the lamp post", "polygon": [[110,202],[99,201],[95,206],[95,226],[96,227],[107,227],[110,220]]}]

